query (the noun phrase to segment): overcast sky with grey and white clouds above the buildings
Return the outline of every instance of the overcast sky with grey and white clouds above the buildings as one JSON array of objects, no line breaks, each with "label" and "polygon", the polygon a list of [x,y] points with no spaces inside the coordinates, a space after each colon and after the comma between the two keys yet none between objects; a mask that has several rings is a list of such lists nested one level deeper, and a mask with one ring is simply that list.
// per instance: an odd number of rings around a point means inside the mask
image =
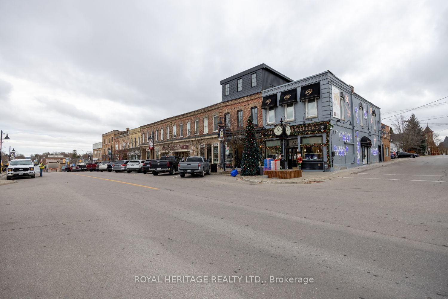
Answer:
[{"label": "overcast sky with grey and white clouds above the buildings", "polygon": [[[220,102],[220,80],[261,63],[293,80],[330,70],[389,117],[448,96],[447,15],[446,0],[0,0],[3,150],[91,151]],[[444,139],[439,103],[414,113]]]}]

